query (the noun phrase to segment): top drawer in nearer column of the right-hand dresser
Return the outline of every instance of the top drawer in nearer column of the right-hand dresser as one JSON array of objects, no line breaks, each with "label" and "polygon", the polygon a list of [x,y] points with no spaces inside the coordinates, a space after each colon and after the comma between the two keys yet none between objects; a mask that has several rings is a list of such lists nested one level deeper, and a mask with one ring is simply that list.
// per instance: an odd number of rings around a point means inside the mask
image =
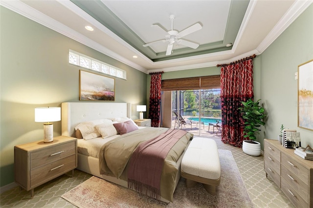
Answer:
[{"label": "top drawer in nearer column of the right-hand dresser", "polygon": [[285,153],[282,153],[282,165],[285,165],[285,167],[289,169],[290,173],[297,176],[301,181],[308,185],[309,171],[307,168],[305,168],[295,160],[291,159]]}]

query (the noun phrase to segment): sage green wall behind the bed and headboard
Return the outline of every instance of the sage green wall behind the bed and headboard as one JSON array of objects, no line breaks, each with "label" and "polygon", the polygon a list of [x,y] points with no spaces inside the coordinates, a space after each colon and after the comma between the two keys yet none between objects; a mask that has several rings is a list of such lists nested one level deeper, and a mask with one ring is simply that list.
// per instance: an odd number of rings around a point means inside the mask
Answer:
[{"label": "sage green wall behind the bed and headboard", "polygon": [[[0,186],[14,181],[14,146],[43,139],[34,108],[79,101],[82,68],[68,64],[69,49],[126,70],[127,80],[115,78],[114,102],[132,103],[132,118],[139,117],[135,106],[146,104],[147,74],[4,7],[0,25]],[[61,121],[54,122],[59,135]]]}]

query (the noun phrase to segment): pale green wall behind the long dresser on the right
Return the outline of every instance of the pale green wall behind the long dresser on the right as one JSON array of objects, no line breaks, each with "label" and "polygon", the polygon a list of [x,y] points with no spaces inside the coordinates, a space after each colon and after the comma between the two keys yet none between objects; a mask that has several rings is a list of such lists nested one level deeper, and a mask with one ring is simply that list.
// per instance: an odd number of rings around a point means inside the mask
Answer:
[{"label": "pale green wall behind the long dresser on the right", "polygon": [[313,4],[261,54],[261,98],[268,114],[264,138],[277,139],[280,125],[300,132],[313,146],[313,131],[297,127],[298,65],[313,59]]}]

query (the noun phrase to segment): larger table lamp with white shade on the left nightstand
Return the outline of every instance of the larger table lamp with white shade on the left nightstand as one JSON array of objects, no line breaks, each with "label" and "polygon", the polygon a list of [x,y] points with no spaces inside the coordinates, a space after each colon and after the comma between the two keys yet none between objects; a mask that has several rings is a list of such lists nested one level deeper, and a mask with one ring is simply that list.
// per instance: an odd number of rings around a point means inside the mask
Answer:
[{"label": "larger table lamp with white shade on the left nightstand", "polygon": [[35,122],[44,123],[44,142],[53,141],[53,121],[61,120],[60,107],[35,108]]}]

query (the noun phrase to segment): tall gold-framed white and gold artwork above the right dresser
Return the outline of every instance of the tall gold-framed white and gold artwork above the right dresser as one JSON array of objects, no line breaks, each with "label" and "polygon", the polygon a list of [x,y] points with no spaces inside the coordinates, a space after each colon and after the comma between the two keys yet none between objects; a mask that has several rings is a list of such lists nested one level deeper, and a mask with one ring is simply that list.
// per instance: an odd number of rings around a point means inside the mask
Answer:
[{"label": "tall gold-framed white and gold artwork above the right dresser", "polygon": [[298,127],[313,131],[313,59],[298,66]]}]

